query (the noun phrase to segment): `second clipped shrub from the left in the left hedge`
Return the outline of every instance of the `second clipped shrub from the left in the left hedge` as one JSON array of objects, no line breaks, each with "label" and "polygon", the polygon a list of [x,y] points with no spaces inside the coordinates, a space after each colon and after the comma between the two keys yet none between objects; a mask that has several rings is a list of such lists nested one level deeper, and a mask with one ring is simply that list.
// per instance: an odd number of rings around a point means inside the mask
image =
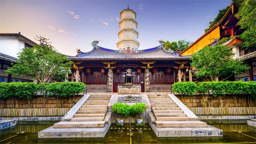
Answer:
[{"label": "second clipped shrub from the left in the left hedge", "polygon": [[19,98],[26,98],[28,101],[28,108],[30,108],[30,101],[33,96],[37,94],[37,85],[33,82],[17,82],[16,96]]}]

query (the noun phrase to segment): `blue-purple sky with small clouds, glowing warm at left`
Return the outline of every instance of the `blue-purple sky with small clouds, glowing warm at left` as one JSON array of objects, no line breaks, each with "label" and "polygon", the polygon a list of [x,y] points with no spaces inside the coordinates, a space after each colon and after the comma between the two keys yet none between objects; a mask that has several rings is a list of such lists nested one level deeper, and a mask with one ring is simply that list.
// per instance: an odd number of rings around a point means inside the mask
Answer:
[{"label": "blue-purple sky with small clouds, glowing warm at left", "polygon": [[74,56],[76,49],[92,50],[91,42],[117,50],[120,12],[137,13],[139,49],[158,46],[156,40],[195,41],[209,22],[231,0],[170,1],[0,1],[0,33],[18,33],[34,42],[36,35],[49,38],[59,52]]}]

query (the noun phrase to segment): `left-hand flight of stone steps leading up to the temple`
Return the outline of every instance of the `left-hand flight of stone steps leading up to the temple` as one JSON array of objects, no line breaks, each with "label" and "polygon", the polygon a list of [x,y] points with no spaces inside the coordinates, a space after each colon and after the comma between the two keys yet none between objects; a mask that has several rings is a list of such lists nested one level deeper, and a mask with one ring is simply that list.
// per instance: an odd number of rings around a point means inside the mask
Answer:
[{"label": "left-hand flight of stone steps leading up to the temple", "polygon": [[76,111],[70,121],[54,124],[54,128],[96,128],[106,125],[105,115],[111,98],[109,94],[93,94]]}]

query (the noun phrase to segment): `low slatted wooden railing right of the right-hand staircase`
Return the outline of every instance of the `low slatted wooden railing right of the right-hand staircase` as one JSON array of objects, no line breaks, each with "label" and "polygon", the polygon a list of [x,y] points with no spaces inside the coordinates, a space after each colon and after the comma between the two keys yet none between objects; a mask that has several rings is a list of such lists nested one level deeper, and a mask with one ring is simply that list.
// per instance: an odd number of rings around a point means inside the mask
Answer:
[{"label": "low slatted wooden railing right of the right-hand staircase", "polygon": [[256,107],[189,107],[195,115],[253,115]]}]

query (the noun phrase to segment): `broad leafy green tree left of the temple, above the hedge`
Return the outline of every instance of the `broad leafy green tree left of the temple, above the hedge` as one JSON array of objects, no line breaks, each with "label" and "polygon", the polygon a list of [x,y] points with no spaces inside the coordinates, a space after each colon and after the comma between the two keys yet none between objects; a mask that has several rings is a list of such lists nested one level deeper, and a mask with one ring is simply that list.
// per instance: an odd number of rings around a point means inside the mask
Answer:
[{"label": "broad leafy green tree left of the temple, above the hedge", "polygon": [[40,83],[66,78],[72,64],[66,55],[38,44],[33,48],[22,49],[18,53],[18,58],[16,64],[12,63],[13,67],[6,70],[6,74],[13,74],[14,77],[20,75],[30,80],[38,80]]}]

